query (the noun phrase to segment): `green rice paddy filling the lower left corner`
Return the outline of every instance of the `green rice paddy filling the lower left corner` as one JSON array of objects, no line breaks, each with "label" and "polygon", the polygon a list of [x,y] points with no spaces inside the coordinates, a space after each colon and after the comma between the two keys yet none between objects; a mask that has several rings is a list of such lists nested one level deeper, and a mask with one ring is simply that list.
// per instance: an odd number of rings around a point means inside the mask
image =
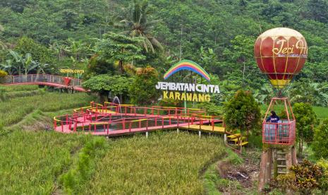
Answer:
[{"label": "green rice paddy filling the lower left corner", "polygon": [[0,136],[0,194],[51,194],[56,178],[91,136],[13,131]]}]

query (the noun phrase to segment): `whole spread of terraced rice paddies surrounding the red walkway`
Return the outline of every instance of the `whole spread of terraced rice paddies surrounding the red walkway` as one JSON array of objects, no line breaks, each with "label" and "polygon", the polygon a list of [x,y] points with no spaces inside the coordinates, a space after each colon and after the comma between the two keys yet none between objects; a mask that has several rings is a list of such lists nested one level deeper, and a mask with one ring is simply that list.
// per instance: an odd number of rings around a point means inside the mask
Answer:
[{"label": "whole spread of terraced rice paddies surrounding the red walkway", "polygon": [[58,134],[52,117],[95,96],[1,89],[0,194],[204,194],[203,173],[225,153],[219,136],[187,132]]}]

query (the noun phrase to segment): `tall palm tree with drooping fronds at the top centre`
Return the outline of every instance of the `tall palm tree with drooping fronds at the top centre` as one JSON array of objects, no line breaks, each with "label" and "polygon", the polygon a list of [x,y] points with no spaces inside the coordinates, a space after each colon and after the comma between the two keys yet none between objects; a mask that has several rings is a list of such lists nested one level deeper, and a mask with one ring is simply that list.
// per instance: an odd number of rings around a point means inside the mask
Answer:
[{"label": "tall palm tree with drooping fronds at the top centre", "polygon": [[163,49],[161,43],[151,35],[154,25],[161,20],[149,21],[147,20],[149,14],[148,1],[134,2],[133,7],[126,14],[126,18],[121,20],[118,25],[126,29],[123,31],[124,34],[130,35],[131,37],[142,37],[142,46],[146,52],[148,52],[148,48],[154,52],[155,49]]}]

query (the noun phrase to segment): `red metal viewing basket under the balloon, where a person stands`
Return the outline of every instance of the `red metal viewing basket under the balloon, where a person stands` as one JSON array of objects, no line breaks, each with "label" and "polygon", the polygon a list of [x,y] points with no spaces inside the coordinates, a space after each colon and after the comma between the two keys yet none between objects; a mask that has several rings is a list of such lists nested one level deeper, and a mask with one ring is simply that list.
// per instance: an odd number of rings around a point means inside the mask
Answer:
[{"label": "red metal viewing basket under the balloon, where a person stands", "polygon": [[[267,122],[267,117],[271,110],[277,106],[277,102],[282,102],[284,112],[281,112],[284,116],[279,116],[279,122],[272,123]],[[288,98],[272,98],[265,118],[262,123],[262,143],[277,146],[292,146],[296,138],[296,119],[291,109],[291,103]]]}]

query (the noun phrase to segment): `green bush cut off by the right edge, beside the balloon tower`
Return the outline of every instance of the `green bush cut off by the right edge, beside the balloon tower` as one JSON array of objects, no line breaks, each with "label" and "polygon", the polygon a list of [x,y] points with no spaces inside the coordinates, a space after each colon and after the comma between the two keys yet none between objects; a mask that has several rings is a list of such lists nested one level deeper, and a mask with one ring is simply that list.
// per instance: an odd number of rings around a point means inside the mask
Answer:
[{"label": "green bush cut off by the right edge, beside the balloon tower", "polygon": [[322,124],[315,129],[315,136],[312,141],[312,149],[317,158],[328,158],[328,119],[324,119]]}]

